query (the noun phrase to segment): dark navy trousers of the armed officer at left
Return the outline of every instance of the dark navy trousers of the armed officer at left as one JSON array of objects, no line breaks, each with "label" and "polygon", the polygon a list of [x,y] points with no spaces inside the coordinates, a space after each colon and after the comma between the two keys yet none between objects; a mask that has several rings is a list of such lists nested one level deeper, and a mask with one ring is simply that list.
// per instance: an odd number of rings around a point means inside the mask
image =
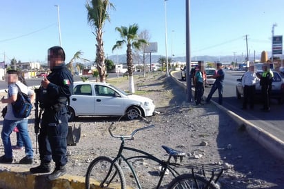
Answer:
[{"label": "dark navy trousers of the armed officer at left", "polygon": [[55,166],[65,166],[68,135],[68,116],[66,110],[55,112],[45,110],[41,119],[39,130],[39,157],[41,163],[50,163],[51,159]]}]

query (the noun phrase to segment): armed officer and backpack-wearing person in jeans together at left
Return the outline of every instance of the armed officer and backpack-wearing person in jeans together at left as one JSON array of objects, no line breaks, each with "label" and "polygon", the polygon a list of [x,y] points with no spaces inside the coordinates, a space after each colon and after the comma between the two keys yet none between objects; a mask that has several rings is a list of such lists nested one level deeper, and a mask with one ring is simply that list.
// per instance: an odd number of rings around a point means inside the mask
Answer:
[{"label": "armed officer and backpack-wearing person in jeans together at left", "polygon": [[[50,162],[55,163],[54,171],[48,175],[49,180],[57,179],[65,175],[65,165],[68,162],[66,151],[68,135],[68,98],[73,91],[73,77],[65,66],[65,52],[60,46],[48,49],[48,66],[50,74],[41,81],[39,90],[35,93],[28,86],[19,81],[17,70],[8,70],[6,82],[8,83],[8,97],[3,97],[1,103],[8,104],[8,110],[3,120],[1,139],[4,146],[4,155],[0,157],[0,163],[12,163],[12,145],[10,135],[14,128],[19,130],[19,137],[23,142],[26,157],[19,163],[34,163],[32,141],[28,135],[28,118],[14,117],[12,103],[17,100],[18,87],[21,92],[30,97],[33,103],[35,96],[39,99],[39,107],[43,110],[41,126],[39,128],[39,166],[30,168],[31,173],[50,172]],[[40,111],[41,112],[41,111]]]}]

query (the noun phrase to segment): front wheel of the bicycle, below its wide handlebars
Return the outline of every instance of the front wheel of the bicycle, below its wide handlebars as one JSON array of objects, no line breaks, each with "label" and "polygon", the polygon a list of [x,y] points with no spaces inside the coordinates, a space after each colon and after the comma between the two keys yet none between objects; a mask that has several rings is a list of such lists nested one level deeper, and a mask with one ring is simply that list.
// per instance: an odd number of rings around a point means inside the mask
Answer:
[{"label": "front wheel of the bicycle, below its wide handlebars", "polygon": [[[110,170],[111,167],[112,170]],[[101,188],[126,188],[121,166],[116,162],[112,166],[112,158],[110,157],[100,156],[94,159],[85,175],[85,188],[96,188],[95,186]]]}]

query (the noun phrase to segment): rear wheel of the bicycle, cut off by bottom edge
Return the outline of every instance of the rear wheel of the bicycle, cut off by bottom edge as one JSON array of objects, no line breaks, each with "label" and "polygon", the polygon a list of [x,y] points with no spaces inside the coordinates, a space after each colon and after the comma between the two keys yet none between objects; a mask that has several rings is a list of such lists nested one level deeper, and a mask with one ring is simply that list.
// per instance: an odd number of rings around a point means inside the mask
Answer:
[{"label": "rear wheel of the bicycle, cut off by bottom edge", "polygon": [[211,182],[209,186],[207,186],[208,181],[205,177],[202,177],[201,175],[194,175],[194,176],[195,179],[192,174],[179,175],[169,183],[168,188],[169,189],[181,189],[181,188],[219,189],[219,186],[214,182]]}]

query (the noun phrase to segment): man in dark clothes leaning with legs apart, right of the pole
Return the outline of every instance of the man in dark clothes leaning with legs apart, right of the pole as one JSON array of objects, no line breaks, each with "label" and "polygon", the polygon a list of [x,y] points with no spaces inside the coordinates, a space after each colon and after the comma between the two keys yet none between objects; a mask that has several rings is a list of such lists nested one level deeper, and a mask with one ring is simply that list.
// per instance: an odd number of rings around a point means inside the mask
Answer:
[{"label": "man in dark clothes leaning with legs apart, right of the pole", "polygon": [[223,81],[225,77],[225,72],[222,69],[222,63],[217,63],[216,66],[217,66],[217,73],[212,76],[216,80],[210,90],[210,93],[207,96],[206,103],[210,102],[212,95],[218,89],[218,93],[219,93],[218,103],[222,105],[223,103]]}]

